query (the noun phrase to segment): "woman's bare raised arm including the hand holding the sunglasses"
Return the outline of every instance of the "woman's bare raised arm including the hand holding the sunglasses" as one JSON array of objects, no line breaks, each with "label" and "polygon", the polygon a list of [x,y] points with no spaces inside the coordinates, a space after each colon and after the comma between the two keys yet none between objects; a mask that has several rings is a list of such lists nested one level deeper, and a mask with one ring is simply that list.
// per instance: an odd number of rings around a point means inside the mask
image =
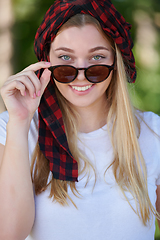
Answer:
[{"label": "woman's bare raised arm including the hand holding the sunglasses", "polygon": [[49,82],[46,69],[40,80],[35,71],[48,68],[39,62],[11,76],[1,89],[9,121],[6,144],[0,144],[0,239],[24,240],[35,218],[30,175],[28,131],[42,93]]}]

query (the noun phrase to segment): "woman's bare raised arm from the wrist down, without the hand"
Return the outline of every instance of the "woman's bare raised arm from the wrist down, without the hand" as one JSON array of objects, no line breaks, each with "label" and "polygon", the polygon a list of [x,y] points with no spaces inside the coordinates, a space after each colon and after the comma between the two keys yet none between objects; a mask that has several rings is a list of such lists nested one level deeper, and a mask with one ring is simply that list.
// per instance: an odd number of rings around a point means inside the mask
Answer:
[{"label": "woman's bare raised arm from the wrist down, without the hand", "polygon": [[0,144],[0,239],[22,240],[35,215],[28,138],[18,124],[8,124],[7,131],[5,147]]}]

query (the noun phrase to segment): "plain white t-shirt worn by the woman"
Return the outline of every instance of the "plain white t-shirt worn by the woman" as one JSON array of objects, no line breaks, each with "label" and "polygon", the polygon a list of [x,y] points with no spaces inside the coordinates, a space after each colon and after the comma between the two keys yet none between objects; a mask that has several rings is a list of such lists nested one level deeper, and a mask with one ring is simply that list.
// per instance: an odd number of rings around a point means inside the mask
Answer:
[{"label": "plain white t-shirt worn by the woman", "polygon": [[[142,113],[144,120],[160,136],[160,117],[151,113]],[[5,144],[8,113],[0,115],[0,143]],[[37,113],[29,131],[30,157],[37,142]],[[155,224],[145,227],[137,214],[132,210],[119,187],[112,169],[104,171],[112,162],[113,152],[107,134],[107,126],[90,133],[79,133],[79,148],[96,168],[97,181],[94,185],[94,174],[85,187],[86,176],[76,183],[81,197],[76,197],[69,189],[69,195],[76,204],[75,208],[68,201],[68,206],[53,202],[48,196],[50,189],[35,196],[36,217],[30,234],[32,240],[153,240]],[[148,171],[148,191],[155,206],[156,187],[160,185],[160,139],[141,122],[139,143]],[[50,174],[51,177],[51,174]],[[135,208],[131,194],[127,193],[130,204]]]}]

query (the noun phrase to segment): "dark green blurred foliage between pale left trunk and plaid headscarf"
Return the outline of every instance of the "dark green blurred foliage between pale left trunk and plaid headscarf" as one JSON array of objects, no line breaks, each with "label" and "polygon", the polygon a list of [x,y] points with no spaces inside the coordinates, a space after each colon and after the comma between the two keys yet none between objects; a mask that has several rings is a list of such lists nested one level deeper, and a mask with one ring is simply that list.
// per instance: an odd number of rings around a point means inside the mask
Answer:
[{"label": "dark green blurred foliage between pale left trunk and plaid headscarf", "polygon": [[53,1],[13,0],[15,24],[12,28],[14,72],[37,61],[34,54],[34,37],[43,16]]}]

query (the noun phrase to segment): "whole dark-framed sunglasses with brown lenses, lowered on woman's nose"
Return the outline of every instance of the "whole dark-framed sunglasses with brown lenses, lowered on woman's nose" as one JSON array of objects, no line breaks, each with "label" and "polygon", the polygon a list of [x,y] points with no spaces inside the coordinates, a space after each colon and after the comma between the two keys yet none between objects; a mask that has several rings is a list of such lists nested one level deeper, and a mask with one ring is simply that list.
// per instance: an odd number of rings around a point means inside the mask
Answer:
[{"label": "whole dark-framed sunglasses with brown lenses, lowered on woman's nose", "polygon": [[114,69],[114,63],[112,66],[108,65],[92,65],[88,68],[75,68],[71,65],[56,65],[48,68],[52,77],[60,83],[73,82],[78,76],[79,70],[84,70],[86,79],[91,83],[100,83],[106,80],[110,72]]}]

